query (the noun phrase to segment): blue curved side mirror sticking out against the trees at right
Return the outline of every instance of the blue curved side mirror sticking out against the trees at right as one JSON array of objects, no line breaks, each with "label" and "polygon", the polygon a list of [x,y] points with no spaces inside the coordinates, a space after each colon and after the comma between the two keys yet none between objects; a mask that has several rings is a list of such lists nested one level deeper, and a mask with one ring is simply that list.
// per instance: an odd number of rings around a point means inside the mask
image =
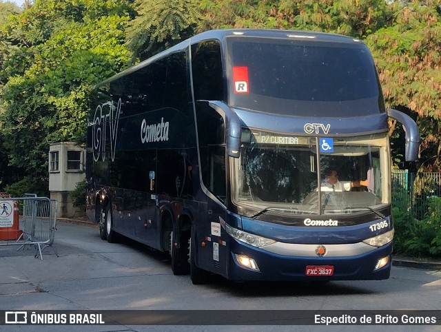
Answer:
[{"label": "blue curved side mirror sticking out against the trees at right", "polygon": [[391,118],[395,118],[396,121],[402,123],[404,127],[404,132],[406,132],[406,153],[404,158],[406,158],[406,161],[418,160],[420,129],[418,129],[415,121],[407,114],[393,110],[393,108],[387,109],[387,115]]}]

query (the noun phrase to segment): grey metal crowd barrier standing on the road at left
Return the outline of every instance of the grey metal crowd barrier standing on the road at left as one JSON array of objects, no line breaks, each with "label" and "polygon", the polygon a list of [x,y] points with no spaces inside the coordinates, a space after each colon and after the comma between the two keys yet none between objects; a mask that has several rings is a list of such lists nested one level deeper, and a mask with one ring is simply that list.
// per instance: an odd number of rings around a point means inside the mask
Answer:
[{"label": "grey metal crowd barrier standing on the road at left", "polygon": [[[26,246],[35,248],[35,258],[43,260],[42,251],[51,247],[55,255],[58,253],[52,246],[54,243],[55,231],[57,230],[57,200],[47,197],[37,197],[35,194],[25,194],[20,198],[1,198],[4,203],[10,202],[9,206],[18,207],[18,214],[14,214],[14,222],[18,222],[21,235],[14,242],[8,241],[0,245],[20,245],[19,249]],[[16,217],[17,215],[17,217]]]}]

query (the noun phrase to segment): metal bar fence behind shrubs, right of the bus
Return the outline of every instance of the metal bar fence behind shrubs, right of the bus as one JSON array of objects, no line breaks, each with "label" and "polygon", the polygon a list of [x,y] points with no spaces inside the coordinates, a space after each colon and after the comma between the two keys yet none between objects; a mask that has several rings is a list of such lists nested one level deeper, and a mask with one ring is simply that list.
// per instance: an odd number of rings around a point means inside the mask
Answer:
[{"label": "metal bar fence behind shrubs, right of the bus", "polygon": [[392,170],[393,207],[405,209],[413,218],[422,220],[433,197],[441,197],[441,173]]}]

